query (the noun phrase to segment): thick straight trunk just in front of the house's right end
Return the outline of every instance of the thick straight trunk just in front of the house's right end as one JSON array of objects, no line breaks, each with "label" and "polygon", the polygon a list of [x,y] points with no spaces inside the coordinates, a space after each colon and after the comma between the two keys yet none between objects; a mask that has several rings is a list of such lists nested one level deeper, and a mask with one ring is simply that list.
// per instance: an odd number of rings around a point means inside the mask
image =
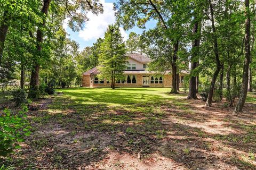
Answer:
[{"label": "thick straight trunk just in front of the house's right end", "polygon": [[[195,18],[196,21],[196,18]],[[196,35],[198,33],[198,25],[199,22],[195,22],[193,27],[193,35]],[[197,99],[196,96],[196,75],[194,73],[196,67],[197,67],[197,55],[198,55],[198,49],[199,49],[199,42],[200,40],[198,38],[195,38],[192,43],[192,54],[191,54],[191,68],[190,68],[190,78],[189,78],[189,90],[188,90],[188,97],[187,99]]]}]

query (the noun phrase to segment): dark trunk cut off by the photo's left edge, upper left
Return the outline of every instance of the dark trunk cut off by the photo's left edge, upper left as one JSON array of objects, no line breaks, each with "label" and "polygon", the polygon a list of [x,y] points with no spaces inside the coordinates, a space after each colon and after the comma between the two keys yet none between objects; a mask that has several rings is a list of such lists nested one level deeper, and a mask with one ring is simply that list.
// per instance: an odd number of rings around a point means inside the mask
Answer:
[{"label": "dark trunk cut off by the photo's left edge, upper left", "polygon": [[4,50],[4,42],[7,35],[8,25],[6,24],[7,21],[7,12],[4,12],[3,20],[0,25],[0,65],[2,63],[3,58],[3,50]]}]

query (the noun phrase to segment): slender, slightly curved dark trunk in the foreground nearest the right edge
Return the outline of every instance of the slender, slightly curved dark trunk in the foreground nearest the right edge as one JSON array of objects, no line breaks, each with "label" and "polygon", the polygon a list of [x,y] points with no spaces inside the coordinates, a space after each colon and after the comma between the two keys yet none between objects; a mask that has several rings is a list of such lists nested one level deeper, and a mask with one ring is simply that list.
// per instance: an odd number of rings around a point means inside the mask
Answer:
[{"label": "slender, slightly curved dark trunk in the foreground nearest the right edge", "polygon": [[239,99],[237,105],[235,107],[234,113],[237,114],[238,112],[243,111],[245,99],[247,96],[247,89],[248,89],[248,74],[249,74],[249,65],[251,59],[251,52],[250,52],[250,26],[251,26],[251,19],[250,19],[250,7],[249,7],[249,0],[244,1],[246,11],[246,20],[245,20],[245,38],[244,38],[244,45],[245,45],[245,60],[243,66],[243,81],[242,81],[242,88],[239,95]]}]

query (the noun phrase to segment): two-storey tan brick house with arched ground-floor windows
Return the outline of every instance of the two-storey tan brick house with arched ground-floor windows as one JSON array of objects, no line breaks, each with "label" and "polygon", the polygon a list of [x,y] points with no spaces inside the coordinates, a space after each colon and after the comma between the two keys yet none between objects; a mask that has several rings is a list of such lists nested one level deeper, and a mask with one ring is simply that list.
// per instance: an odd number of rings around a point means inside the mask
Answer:
[{"label": "two-storey tan brick house with arched ground-floor windows", "polygon": [[[126,70],[124,71],[125,80],[116,81],[115,87],[171,87],[172,74],[171,70],[166,70],[159,75],[153,71],[147,70],[150,58],[141,54],[127,54]],[[99,70],[97,67],[83,73],[83,87],[110,87],[107,80],[99,80],[97,78]],[[182,87],[184,76],[188,74],[186,71],[180,73],[179,82]]]}]

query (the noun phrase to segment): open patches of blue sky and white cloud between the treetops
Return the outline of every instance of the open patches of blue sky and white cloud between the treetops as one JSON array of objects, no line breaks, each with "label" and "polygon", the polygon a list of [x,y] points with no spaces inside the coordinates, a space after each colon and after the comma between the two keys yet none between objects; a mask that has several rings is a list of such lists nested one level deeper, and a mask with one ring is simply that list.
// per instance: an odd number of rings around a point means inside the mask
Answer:
[{"label": "open patches of blue sky and white cloud between the treetops", "polygon": [[[69,34],[69,38],[75,40],[79,44],[79,50],[83,50],[87,46],[92,46],[98,38],[104,37],[104,32],[107,30],[109,24],[114,24],[116,22],[115,12],[113,10],[115,0],[100,0],[103,5],[103,13],[99,15],[94,15],[88,13],[87,16],[90,19],[84,24],[84,29],[78,32],[73,32],[68,28],[67,23],[63,23],[63,28]],[[156,21],[149,21],[146,23],[146,29],[154,28]],[[143,29],[134,27],[130,30],[124,31],[122,27],[119,28],[122,33],[122,37],[126,40],[129,37],[130,32],[142,33]]]}]

